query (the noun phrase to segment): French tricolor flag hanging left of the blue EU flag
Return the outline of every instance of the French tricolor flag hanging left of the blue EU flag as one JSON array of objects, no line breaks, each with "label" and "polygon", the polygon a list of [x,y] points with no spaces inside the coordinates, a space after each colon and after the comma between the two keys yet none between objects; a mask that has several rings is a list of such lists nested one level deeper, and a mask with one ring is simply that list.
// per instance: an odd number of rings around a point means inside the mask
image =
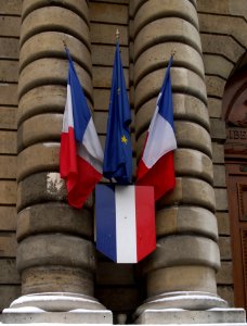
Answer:
[{"label": "French tricolor flag hanging left of the blue EU flag", "polygon": [[60,174],[69,205],[80,209],[101,180],[103,150],[68,49],[67,98],[61,135]]}]

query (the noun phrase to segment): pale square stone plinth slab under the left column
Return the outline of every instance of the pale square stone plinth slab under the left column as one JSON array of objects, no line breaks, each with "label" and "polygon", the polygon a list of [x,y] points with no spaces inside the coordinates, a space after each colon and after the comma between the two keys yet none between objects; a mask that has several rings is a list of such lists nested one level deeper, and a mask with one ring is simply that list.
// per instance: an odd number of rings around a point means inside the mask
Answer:
[{"label": "pale square stone plinth slab under the left column", "polygon": [[2,324],[108,324],[113,325],[109,311],[78,312],[44,312],[44,313],[3,313],[0,315]]}]

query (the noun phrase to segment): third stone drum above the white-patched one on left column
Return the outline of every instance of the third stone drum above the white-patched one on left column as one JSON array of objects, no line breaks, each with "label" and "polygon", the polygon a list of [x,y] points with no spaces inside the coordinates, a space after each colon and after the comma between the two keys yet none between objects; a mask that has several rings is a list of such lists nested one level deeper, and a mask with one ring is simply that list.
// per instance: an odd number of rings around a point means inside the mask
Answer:
[{"label": "third stone drum above the white-patched one on left column", "polygon": [[44,85],[26,92],[18,103],[17,122],[44,113],[63,113],[66,101],[66,87],[61,85]]}]

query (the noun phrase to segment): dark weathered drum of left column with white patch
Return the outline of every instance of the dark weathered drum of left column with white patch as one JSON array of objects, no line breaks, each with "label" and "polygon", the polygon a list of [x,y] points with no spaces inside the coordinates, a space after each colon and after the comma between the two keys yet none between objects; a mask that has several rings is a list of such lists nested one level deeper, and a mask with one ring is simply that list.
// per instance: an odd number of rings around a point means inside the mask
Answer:
[{"label": "dark weathered drum of left column with white patch", "polygon": [[[23,179],[17,187],[17,211],[46,201],[66,201],[65,181],[57,172],[41,172]],[[92,206],[89,196],[86,208]]]}]

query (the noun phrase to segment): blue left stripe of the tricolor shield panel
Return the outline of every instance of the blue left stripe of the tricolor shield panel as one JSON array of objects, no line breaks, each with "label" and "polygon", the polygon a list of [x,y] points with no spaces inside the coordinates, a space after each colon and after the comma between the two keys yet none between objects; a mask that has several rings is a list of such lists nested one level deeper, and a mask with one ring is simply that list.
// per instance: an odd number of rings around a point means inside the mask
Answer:
[{"label": "blue left stripe of the tricolor shield panel", "polygon": [[96,249],[117,261],[115,187],[95,188]]}]

